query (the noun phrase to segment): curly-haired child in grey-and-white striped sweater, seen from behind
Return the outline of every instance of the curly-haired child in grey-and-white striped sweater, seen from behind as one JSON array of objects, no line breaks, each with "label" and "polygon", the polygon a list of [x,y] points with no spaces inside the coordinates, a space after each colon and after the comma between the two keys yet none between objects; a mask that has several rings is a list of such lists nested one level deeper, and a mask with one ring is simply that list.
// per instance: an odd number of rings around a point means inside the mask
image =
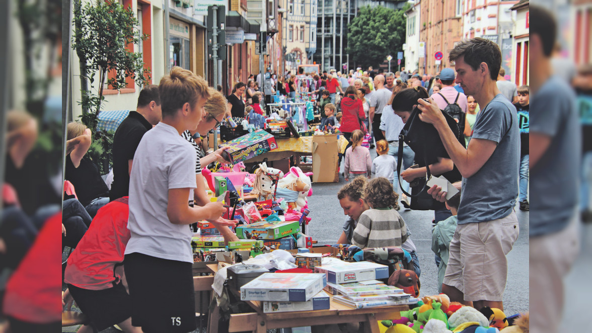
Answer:
[{"label": "curly-haired child in grey-and-white striped sweater, seen from behind", "polygon": [[359,248],[401,245],[407,240],[407,225],[393,207],[398,195],[385,177],[369,180],[364,200],[370,209],[360,215],[353,231],[352,244]]}]

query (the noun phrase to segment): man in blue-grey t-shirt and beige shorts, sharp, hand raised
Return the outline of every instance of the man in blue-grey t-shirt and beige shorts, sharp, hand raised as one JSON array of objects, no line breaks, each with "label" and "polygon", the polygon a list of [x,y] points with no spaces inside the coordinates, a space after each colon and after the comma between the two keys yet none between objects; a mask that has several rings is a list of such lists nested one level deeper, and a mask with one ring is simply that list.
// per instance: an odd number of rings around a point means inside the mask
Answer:
[{"label": "man in blue-grey t-shirt and beige shorts, sharp, hand raised", "polygon": [[[484,38],[464,40],[449,52],[449,60],[455,62],[456,83],[482,109],[465,149],[436,102],[419,100],[420,119],[434,125],[462,174],[458,227],[450,243],[442,292],[451,301],[475,309],[503,309],[506,255],[519,234],[513,210],[518,195],[520,153],[516,108],[496,85],[501,66],[497,44]],[[438,201],[446,199],[446,192],[439,186],[433,186],[428,193]]]}]

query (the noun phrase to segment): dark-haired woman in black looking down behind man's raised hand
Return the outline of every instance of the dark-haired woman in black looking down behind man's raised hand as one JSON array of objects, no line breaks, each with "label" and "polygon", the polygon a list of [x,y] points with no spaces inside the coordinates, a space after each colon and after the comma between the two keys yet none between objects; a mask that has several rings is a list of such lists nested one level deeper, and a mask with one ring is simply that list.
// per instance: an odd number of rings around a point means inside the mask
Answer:
[{"label": "dark-haired woman in black looking down behind man's raised hand", "polygon": [[[417,108],[417,104],[419,104],[417,100],[420,98],[428,98],[427,90],[422,86],[403,89],[392,99],[392,109],[396,115],[403,119],[403,122],[407,122],[407,119],[411,115],[411,111],[413,111],[414,108]],[[426,143],[423,149],[422,147],[413,147],[415,163],[419,167],[413,169],[409,168],[401,172],[401,178],[409,183],[419,177],[425,179],[427,173],[426,163],[428,163],[430,164],[430,172],[432,173],[432,176],[437,177],[441,174],[451,183],[461,180],[461,173],[456,169],[454,163],[452,163],[446,150],[440,151],[439,149],[436,149],[437,151],[435,151],[435,147],[437,147],[435,144],[430,143]],[[446,209],[443,202],[434,201],[433,208],[435,223],[452,216],[451,211]]]}]

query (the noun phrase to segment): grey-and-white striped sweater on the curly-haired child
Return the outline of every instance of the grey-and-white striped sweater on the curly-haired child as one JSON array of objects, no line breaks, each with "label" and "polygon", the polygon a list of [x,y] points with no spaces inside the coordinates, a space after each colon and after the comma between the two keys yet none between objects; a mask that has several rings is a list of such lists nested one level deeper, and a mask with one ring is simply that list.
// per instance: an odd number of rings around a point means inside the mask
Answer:
[{"label": "grey-and-white striped sweater on the curly-haired child", "polygon": [[352,244],[366,247],[401,247],[407,240],[407,225],[395,209],[368,209],[360,215]]}]

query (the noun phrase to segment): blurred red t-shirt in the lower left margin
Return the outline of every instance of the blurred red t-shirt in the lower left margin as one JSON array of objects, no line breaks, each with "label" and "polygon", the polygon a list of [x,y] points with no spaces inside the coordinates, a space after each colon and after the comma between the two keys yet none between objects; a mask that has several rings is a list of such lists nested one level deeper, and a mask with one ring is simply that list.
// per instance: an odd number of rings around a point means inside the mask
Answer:
[{"label": "blurred red t-shirt in the lower left margin", "polygon": [[[61,321],[62,212],[53,215],[37,234],[6,284],[4,314],[31,324]],[[56,241],[57,240],[57,241]]]}]

